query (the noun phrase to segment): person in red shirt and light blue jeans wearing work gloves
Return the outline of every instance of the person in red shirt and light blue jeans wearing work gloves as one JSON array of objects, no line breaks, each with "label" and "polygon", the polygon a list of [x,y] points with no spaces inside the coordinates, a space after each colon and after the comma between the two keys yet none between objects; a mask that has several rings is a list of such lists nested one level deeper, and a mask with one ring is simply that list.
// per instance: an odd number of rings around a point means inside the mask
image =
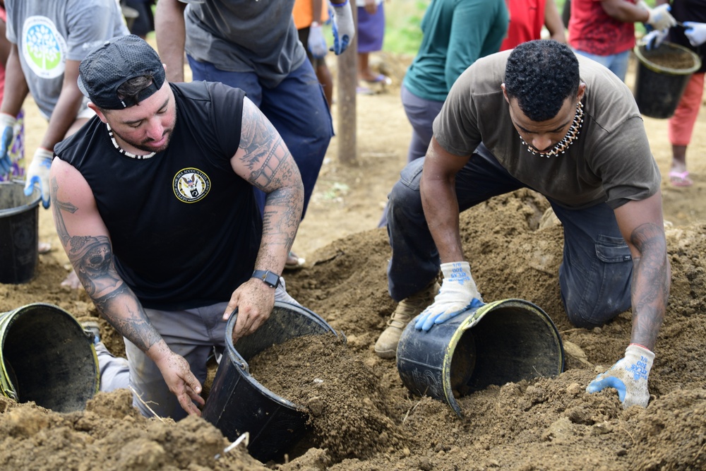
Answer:
[{"label": "person in red shirt and light blue jeans wearing work gloves", "polygon": [[676,25],[669,5],[650,8],[642,0],[572,0],[569,44],[625,81],[637,21],[656,30]]}]

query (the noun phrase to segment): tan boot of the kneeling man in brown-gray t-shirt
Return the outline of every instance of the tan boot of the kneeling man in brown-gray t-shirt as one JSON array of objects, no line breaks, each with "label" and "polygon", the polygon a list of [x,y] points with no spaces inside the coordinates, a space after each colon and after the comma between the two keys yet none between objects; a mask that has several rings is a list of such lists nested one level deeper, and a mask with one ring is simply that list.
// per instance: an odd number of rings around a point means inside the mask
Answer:
[{"label": "tan boot of the kneeling man in brown-gray t-shirt", "polygon": [[402,299],[400,304],[397,304],[392,316],[388,319],[388,327],[383,330],[383,333],[375,342],[375,353],[381,358],[395,358],[397,354],[397,343],[400,342],[402,330],[405,329],[407,323],[412,321],[417,314],[424,311],[431,303],[434,302],[434,297],[441,289],[438,282],[433,280],[427,285],[424,290],[407,299]]}]

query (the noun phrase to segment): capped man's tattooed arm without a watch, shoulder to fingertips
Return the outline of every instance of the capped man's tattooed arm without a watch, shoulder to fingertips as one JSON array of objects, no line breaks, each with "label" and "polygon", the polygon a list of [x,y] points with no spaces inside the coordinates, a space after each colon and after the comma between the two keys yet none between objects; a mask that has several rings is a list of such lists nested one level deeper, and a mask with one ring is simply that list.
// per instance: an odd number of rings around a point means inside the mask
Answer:
[{"label": "capped man's tattooed arm without a watch, shoulder to fingertips", "polygon": [[189,414],[201,415],[201,384],[184,357],[172,352],[155,330],[135,293],[117,273],[110,235],[93,193],[78,170],[54,159],[49,175],[54,224],[78,279],[100,314],[157,364],[169,390]]}]

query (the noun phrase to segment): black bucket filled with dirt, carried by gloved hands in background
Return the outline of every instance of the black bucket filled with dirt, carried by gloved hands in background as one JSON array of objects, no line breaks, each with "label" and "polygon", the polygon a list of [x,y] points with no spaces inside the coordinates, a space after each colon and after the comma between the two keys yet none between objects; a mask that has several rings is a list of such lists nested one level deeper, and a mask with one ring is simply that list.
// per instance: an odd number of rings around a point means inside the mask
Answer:
[{"label": "black bucket filled with dirt, carried by gloved hands in background", "polygon": [[701,67],[701,59],[686,47],[663,42],[651,50],[635,46],[638,70],[635,75],[635,102],[640,113],[651,118],[672,117],[691,74]]}]

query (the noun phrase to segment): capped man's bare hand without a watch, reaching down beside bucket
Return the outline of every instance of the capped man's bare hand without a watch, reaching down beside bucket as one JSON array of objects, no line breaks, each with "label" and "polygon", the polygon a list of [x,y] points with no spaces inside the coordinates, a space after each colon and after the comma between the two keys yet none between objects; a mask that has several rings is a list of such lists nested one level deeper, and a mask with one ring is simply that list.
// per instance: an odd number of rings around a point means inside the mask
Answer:
[{"label": "capped man's bare hand without a watch, reaching down beside bucket", "polygon": [[205,401],[201,398],[201,383],[198,382],[196,376],[191,373],[189,362],[179,354],[172,352],[165,343],[162,349],[166,348],[164,355],[160,359],[155,360],[155,363],[162,371],[164,381],[167,383],[169,390],[177,396],[179,405],[189,415],[197,415],[201,417],[201,411],[196,407],[203,406]]}]

